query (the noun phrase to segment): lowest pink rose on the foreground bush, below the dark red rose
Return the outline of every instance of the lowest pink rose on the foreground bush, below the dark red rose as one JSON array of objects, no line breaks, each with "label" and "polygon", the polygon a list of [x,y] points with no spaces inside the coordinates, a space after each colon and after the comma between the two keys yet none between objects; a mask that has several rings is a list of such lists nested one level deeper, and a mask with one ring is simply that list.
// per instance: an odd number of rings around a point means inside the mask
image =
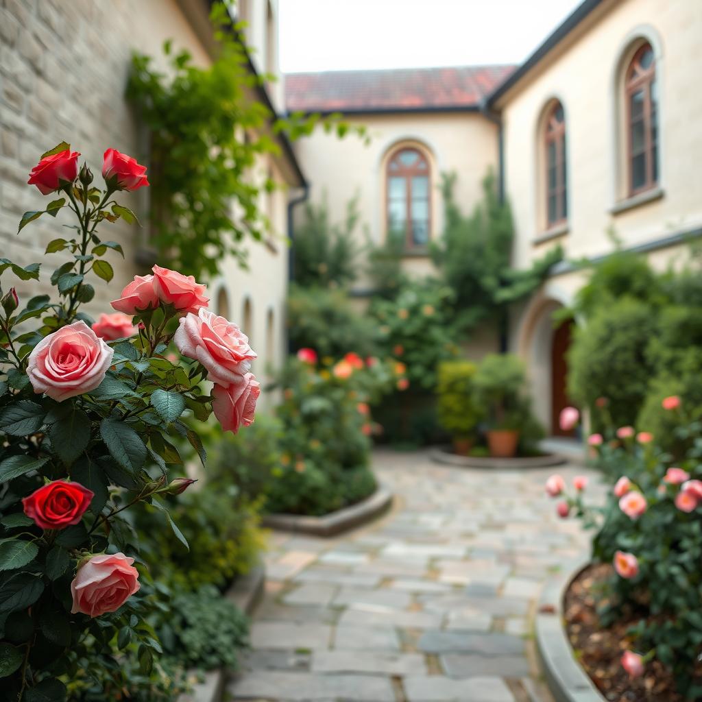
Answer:
[{"label": "lowest pink rose on the foreground bush, below the dark red rose", "polygon": [[100,616],[119,609],[139,589],[139,571],[124,553],[93,556],[79,567],[71,583],[71,614]]}]

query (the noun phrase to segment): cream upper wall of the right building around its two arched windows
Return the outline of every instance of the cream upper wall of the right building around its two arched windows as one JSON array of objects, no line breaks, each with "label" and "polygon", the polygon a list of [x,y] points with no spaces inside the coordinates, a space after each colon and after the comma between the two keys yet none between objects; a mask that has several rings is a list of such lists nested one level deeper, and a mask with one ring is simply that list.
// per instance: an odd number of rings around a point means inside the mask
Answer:
[{"label": "cream upper wall of the right building around its two arched windows", "polygon": [[[702,225],[702,123],[694,117],[702,113],[702,92],[692,87],[702,67],[702,2],[610,0],[573,36],[498,102],[519,267],[555,241],[570,258],[606,253],[612,248],[606,233],[611,227],[624,246],[633,246]],[[663,197],[613,213],[625,199],[621,69],[642,39],[656,53]],[[569,231],[535,245],[544,229],[539,124],[553,98],[562,102],[566,115]]]}]

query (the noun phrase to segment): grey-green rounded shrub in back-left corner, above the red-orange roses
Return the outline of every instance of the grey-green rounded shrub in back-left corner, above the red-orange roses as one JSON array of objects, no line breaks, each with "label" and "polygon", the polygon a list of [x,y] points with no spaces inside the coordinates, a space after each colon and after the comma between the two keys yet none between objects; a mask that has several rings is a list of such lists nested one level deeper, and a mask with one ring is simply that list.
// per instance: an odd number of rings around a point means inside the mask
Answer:
[{"label": "grey-green rounded shrub in back-left corner, above the red-orange roses", "polygon": [[288,333],[294,348],[310,347],[324,357],[349,351],[376,354],[378,325],[352,306],[345,291],[292,285],[288,296]]}]

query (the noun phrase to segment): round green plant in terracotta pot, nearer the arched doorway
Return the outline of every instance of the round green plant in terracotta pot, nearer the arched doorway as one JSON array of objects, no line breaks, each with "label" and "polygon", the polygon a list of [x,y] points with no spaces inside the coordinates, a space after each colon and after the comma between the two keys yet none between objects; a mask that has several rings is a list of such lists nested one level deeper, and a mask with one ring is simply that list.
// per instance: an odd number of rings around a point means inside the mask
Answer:
[{"label": "round green plant in terracotta pot, nearer the arched doorway", "polygon": [[490,455],[512,458],[517,453],[522,424],[529,419],[522,362],[510,354],[488,355],[479,364],[472,385],[475,402],[486,413]]}]

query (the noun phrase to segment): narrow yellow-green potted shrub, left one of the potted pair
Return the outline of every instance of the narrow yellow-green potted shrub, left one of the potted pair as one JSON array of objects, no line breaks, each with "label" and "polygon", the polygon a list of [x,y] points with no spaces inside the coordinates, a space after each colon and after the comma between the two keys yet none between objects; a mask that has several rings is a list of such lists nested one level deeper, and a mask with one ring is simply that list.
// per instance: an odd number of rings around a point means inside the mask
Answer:
[{"label": "narrow yellow-green potted shrub, left one of the potted pair", "polygon": [[472,379],[477,366],[470,361],[444,361],[439,364],[437,414],[439,424],[449,432],[453,452],[468,456],[475,443],[475,429],[480,419]]}]

